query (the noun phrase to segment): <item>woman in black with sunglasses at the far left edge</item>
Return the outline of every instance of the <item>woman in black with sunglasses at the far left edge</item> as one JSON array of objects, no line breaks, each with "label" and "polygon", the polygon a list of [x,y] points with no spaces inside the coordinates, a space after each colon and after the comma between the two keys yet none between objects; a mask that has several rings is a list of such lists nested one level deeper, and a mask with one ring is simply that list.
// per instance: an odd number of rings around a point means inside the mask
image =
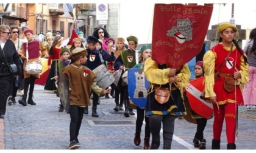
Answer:
[{"label": "woman in black with sunglasses at the far left edge", "polygon": [[[9,36],[10,27],[0,25],[0,118],[4,118],[5,115],[10,84],[13,83],[15,75],[21,74],[20,57]],[[16,73],[9,70],[9,65],[13,63],[16,64],[18,70]]]}]

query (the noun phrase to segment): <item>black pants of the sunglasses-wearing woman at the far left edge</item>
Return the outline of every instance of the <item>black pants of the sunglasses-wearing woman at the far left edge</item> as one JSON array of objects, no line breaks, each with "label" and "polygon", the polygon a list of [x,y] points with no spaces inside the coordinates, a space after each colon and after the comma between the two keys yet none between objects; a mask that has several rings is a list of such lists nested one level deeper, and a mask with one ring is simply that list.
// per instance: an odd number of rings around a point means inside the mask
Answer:
[{"label": "black pants of the sunglasses-wearing woman at the far left edge", "polygon": [[0,76],[0,115],[5,115],[8,90],[13,78],[13,75]]}]

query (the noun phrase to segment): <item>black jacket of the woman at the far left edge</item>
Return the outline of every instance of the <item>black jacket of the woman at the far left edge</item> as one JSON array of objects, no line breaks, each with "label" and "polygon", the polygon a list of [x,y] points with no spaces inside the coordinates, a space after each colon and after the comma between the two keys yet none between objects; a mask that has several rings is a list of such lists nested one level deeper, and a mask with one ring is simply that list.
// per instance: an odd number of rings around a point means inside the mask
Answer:
[{"label": "black jacket of the woman at the far left edge", "polygon": [[[4,53],[2,53],[3,51]],[[11,75],[4,55],[8,64],[16,64],[18,72],[15,75],[21,75],[20,56],[18,55],[15,44],[10,39],[7,39],[5,42],[4,49],[0,46],[0,76]]]}]

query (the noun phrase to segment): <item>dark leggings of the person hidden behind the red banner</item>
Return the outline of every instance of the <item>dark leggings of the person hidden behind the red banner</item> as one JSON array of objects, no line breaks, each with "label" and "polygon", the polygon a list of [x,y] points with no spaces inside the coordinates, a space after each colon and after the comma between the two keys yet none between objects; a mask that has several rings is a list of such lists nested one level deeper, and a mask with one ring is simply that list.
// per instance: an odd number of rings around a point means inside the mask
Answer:
[{"label": "dark leggings of the person hidden behind the red banner", "polygon": [[[163,149],[171,149],[175,118],[176,117],[171,115],[149,116],[149,127],[152,134],[152,143],[158,143],[158,145],[160,145],[160,130],[161,123],[163,123]],[[158,147],[155,149],[158,149]]]}]

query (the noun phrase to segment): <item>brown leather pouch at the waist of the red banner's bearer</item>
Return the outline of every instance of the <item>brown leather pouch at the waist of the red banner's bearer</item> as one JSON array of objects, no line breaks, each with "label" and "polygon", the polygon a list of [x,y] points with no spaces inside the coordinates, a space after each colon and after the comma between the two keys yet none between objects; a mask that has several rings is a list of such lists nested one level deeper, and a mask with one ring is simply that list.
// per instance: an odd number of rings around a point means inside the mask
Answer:
[{"label": "brown leather pouch at the waist of the red banner's bearer", "polygon": [[170,95],[168,88],[159,87],[155,89],[155,100],[160,104],[166,103],[169,100]]}]

